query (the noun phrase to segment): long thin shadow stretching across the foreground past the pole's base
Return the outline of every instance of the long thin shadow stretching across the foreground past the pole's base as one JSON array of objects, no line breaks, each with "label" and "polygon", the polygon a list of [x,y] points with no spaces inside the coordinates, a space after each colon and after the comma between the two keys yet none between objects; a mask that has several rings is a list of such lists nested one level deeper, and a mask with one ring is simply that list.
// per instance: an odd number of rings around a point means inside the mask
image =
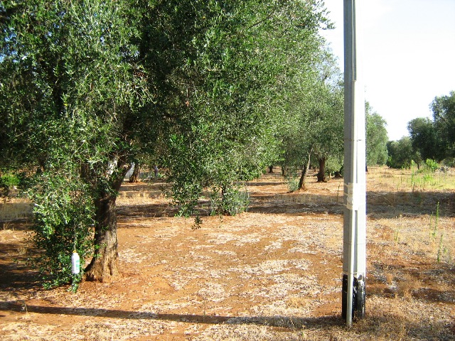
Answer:
[{"label": "long thin shadow stretching across the foreground past the pole's base", "polygon": [[[67,308],[57,306],[26,305],[23,301],[7,301],[0,303],[1,311],[14,311],[16,313],[38,313],[52,315],[77,315],[97,318],[117,318],[126,320],[156,320],[171,321],[178,323],[196,323],[201,325],[261,325],[279,328],[279,331],[319,330],[326,335],[336,332],[343,336],[357,335],[362,340],[370,337],[385,337],[387,340],[401,340],[410,337],[412,340],[453,340],[454,323],[447,324],[444,321],[437,323],[428,320],[414,320],[412,315],[377,314],[374,311],[367,315],[366,320],[355,322],[352,328],[346,329],[346,324],[341,315],[324,315],[321,317],[289,317],[283,315],[272,316],[223,316],[223,315],[198,315],[198,314],[175,314],[137,312],[129,310],[114,310],[102,308]],[[0,315],[2,316],[2,315]],[[347,335],[346,335],[347,336]],[[365,339],[367,337],[367,339]],[[417,339],[416,339],[417,338]],[[328,340],[328,339],[327,339]],[[330,338],[332,340],[332,338]],[[341,339],[333,339],[341,340]]]}]

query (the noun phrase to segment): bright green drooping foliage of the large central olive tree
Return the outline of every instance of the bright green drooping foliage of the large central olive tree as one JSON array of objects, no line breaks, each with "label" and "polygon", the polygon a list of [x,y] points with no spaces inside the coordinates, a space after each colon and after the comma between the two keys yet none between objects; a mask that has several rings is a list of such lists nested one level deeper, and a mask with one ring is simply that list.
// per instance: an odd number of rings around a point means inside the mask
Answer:
[{"label": "bright green drooping foliage of the large central olive tree", "polygon": [[204,16],[183,10],[197,29],[186,29],[188,63],[177,65],[191,79],[171,80],[183,105],[175,111],[165,162],[173,198],[190,215],[204,187],[223,193],[271,163],[275,111],[289,91],[287,76],[319,47],[321,13],[312,1],[213,2]]}]

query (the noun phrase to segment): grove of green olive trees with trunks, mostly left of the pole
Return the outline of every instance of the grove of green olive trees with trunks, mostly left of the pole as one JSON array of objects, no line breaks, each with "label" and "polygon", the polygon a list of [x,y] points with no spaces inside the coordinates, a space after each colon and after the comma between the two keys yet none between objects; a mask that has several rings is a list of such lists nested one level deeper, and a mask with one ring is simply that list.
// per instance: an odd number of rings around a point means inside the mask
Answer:
[{"label": "grove of green olive trees with trunks, mostly left of the pole", "polygon": [[[215,212],[245,209],[239,182],[273,163],[303,169],[301,188],[311,162],[321,181],[342,167],[322,1],[9,1],[0,25],[0,175],[33,202],[47,286],[119,273],[115,205],[133,162],[168,170],[185,216],[204,188]],[[368,117],[382,163],[385,122]],[[80,275],[73,250],[91,259]]]}]

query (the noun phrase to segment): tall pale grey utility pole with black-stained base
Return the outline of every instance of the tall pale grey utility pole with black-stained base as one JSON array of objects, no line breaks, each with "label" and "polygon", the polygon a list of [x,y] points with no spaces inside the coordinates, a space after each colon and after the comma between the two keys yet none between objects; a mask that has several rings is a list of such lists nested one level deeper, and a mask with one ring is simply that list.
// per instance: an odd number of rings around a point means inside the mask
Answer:
[{"label": "tall pale grey utility pole with black-stained base", "polygon": [[[358,0],[360,3],[362,0]],[[344,0],[344,217],[343,310],[350,327],[354,317],[365,318],[366,195],[365,195],[365,97],[358,7]],[[356,11],[357,10],[357,11]],[[357,17],[358,18],[358,17]]]}]

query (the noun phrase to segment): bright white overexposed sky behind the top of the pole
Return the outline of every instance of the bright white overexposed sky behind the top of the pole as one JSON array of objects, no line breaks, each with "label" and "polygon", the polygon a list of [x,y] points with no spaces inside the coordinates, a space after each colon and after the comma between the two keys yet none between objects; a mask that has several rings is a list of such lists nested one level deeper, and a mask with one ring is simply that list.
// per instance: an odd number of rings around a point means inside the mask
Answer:
[{"label": "bright white overexposed sky behind the top of the pole", "polygon": [[[455,91],[455,0],[360,1],[365,99],[399,140],[409,121],[432,118],[434,97]],[[323,36],[343,71],[344,1],[324,2],[336,28]]]}]

